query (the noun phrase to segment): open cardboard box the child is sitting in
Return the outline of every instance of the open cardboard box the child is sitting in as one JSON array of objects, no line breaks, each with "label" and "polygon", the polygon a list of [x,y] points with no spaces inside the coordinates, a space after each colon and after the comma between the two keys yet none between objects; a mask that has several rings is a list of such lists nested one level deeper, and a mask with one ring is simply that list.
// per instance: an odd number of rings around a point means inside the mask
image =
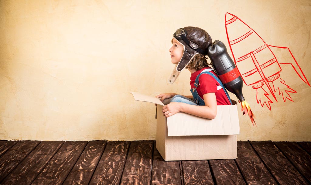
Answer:
[{"label": "open cardboard box the child is sitting in", "polygon": [[237,105],[218,105],[215,119],[179,112],[168,118],[156,97],[131,92],[138,101],[157,105],[156,148],[165,161],[235,159],[240,134]]}]

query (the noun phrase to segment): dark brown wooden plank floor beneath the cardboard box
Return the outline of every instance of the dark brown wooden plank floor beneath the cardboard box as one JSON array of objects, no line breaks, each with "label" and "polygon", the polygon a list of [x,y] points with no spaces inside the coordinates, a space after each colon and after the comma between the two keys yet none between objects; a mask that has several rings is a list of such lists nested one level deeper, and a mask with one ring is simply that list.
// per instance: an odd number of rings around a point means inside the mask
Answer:
[{"label": "dark brown wooden plank floor beneath the cardboard box", "polygon": [[311,142],[238,142],[238,158],[164,161],[155,141],[0,141],[0,184],[311,184]]}]

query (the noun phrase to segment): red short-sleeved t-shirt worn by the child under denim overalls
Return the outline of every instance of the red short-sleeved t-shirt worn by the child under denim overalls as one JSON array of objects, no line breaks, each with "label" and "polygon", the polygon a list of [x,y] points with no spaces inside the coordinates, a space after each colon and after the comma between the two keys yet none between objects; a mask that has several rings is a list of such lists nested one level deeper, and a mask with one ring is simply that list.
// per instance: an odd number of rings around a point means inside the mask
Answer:
[{"label": "red short-sleeved t-shirt worn by the child under denim overalls", "polygon": [[[191,88],[194,87],[194,82],[195,82],[195,79],[197,78],[197,75],[199,75],[201,71],[205,69],[210,69],[210,67],[205,67],[191,74],[191,77],[190,77]],[[214,71],[210,71],[210,72],[216,75]],[[224,89],[221,88],[217,91],[218,85],[220,84],[211,75],[202,74],[199,77],[199,85],[197,86],[197,93],[203,99],[203,94],[215,92],[217,105],[231,105]]]}]

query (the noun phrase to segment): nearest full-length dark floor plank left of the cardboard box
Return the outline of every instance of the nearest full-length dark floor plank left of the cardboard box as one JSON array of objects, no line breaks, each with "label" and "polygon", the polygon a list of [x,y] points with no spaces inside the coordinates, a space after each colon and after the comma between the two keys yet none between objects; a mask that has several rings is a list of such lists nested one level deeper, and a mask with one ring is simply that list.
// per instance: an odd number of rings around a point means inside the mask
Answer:
[{"label": "nearest full-length dark floor plank left of the cardboard box", "polygon": [[132,141],[124,166],[121,185],[151,183],[153,141]]}]

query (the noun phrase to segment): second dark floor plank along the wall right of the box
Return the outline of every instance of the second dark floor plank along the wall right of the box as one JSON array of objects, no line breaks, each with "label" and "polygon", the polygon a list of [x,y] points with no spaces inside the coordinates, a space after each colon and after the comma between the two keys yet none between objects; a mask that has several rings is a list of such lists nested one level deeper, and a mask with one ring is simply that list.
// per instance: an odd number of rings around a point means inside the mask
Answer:
[{"label": "second dark floor plank along the wall right of the box", "polygon": [[253,141],[251,144],[278,183],[309,184],[272,141]]}]

